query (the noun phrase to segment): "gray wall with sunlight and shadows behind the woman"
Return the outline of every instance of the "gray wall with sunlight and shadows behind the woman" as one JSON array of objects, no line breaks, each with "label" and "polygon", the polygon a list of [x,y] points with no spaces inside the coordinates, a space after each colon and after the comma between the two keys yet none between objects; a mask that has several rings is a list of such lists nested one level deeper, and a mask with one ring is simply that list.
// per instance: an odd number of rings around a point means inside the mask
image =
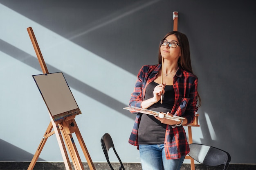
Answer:
[{"label": "gray wall with sunlight and shadows behind the woman", "polygon": [[[76,122],[92,161],[106,161],[100,138],[110,133],[121,159],[139,162],[128,144],[135,115],[122,108],[139,68],[157,63],[173,11],[199,78],[193,142],[228,151],[231,163],[256,163],[252,0],[0,0],[0,161],[31,161],[50,121],[31,76],[42,74],[26,30],[31,26],[49,72],[63,72],[82,111]],[[55,136],[38,160],[63,161]]]}]

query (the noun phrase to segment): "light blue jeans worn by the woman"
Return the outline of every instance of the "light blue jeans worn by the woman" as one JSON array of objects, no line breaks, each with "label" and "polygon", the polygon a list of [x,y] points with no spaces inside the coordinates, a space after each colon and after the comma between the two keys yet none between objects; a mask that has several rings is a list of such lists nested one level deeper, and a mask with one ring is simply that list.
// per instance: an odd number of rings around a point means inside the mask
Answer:
[{"label": "light blue jeans worn by the woman", "polygon": [[143,170],[180,170],[185,156],[180,159],[166,159],[164,144],[139,145]]}]

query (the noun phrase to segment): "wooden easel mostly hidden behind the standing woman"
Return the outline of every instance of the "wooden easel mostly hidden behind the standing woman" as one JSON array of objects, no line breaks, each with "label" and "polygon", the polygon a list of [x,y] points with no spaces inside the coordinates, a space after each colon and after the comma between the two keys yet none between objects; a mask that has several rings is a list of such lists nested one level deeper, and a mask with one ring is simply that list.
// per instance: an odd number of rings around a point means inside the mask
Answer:
[{"label": "wooden easel mostly hidden behind the standing woman", "polygon": [[[177,11],[173,12],[173,31],[178,31],[178,12]],[[195,114],[195,120],[194,120],[193,123],[187,124],[187,125],[183,125],[183,126],[188,126],[189,144],[193,143],[191,127],[192,126],[195,126],[195,127],[199,127],[200,126],[198,124],[198,116],[199,116],[199,114]],[[191,158],[189,155],[187,155],[185,157],[185,159],[190,159],[190,168],[191,168],[191,170],[195,170],[195,161],[194,161],[194,159]]]}]

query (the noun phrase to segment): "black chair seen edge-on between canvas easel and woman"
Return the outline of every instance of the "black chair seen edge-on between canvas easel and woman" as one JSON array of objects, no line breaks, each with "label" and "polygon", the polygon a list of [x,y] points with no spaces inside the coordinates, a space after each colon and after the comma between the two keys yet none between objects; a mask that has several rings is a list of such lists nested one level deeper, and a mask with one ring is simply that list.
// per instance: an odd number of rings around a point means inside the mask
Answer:
[{"label": "black chair seen edge-on between canvas easel and woman", "polygon": [[114,168],[112,167],[110,161],[109,161],[109,157],[108,157],[108,150],[110,148],[113,148],[116,156],[117,156],[117,159],[119,160],[120,162],[120,167],[119,167],[119,170],[125,170],[124,168],[124,165],[121,161],[121,159],[119,158],[118,154],[117,154],[117,151],[115,150],[115,146],[113,144],[113,141],[112,141],[112,138],[110,136],[110,134],[108,133],[105,133],[102,137],[101,137],[101,147],[103,149],[103,153],[105,154],[105,157],[108,161],[108,165],[110,166],[111,170],[114,170]]}]

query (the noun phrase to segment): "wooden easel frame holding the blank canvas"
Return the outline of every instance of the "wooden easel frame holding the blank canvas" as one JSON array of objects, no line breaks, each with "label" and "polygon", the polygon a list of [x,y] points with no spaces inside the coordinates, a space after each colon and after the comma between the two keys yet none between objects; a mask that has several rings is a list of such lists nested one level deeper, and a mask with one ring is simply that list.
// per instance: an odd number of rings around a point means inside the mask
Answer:
[{"label": "wooden easel frame holding the blank canvas", "polygon": [[[49,74],[32,28],[28,27],[27,31],[29,33],[29,37],[31,39],[33,47],[35,49],[38,61],[40,63],[41,69],[43,71],[43,74]],[[36,153],[35,153],[33,159],[31,160],[31,163],[29,164],[29,167],[27,169],[32,170],[34,168],[36,161],[43,149],[43,146],[45,145],[45,143],[47,141],[47,138],[55,133],[57,141],[58,141],[58,145],[61,150],[61,155],[63,157],[65,168],[67,170],[72,170],[71,163],[70,163],[70,160],[69,160],[69,157],[67,154],[67,150],[66,150],[66,147],[67,147],[75,170],[84,170],[83,163],[79,157],[79,153],[76,149],[76,146],[74,144],[74,140],[72,137],[72,133],[75,133],[76,137],[79,141],[79,144],[83,150],[83,153],[85,155],[85,158],[87,160],[90,170],[95,170],[92,159],[91,159],[89,152],[85,146],[85,143],[84,143],[81,133],[78,129],[76,121],[74,120],[75,116],[67,117],[65,120],[61,120],[59,122],[54,122],[52,115],[50,113],[49,113],[49,116],[50,116],[51,122],[49,123],[49,125],[45,131],[45,134],[43,135],[43,139],[41,140],[41,142],[36,150]],[[54,129],[54,130],[52,131],[52,129]],[[64,140],[63,140],[63,138],[64,138]],[[64,141],[67,146],[65,146]]]}]

